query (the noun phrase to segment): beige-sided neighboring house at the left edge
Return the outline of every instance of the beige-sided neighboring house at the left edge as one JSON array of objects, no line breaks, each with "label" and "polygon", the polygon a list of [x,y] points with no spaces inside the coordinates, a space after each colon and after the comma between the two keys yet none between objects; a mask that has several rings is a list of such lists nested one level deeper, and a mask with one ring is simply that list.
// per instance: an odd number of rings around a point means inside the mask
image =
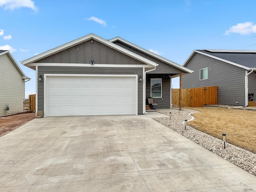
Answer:
[{"label": "beige-sided neighboring house at the left edge", "polygon": [[[23,111],[26,77],[10,52],[0,50],[0,114]],[[9,110],[6,110],[7,105]]]}]

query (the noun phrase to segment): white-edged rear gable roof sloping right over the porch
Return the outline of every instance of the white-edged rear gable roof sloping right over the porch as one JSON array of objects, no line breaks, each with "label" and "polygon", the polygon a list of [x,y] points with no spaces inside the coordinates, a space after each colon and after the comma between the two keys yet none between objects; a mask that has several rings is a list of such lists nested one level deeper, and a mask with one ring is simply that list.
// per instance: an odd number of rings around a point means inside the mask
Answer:
[{"label": "white-edged rear gable roof sloping right over the porch", "polygon": [[112,38],[112,39],[110,39],[108,41],[110,41],[110,42],[120,41],[120,42],[122,42],[124,44],[127,44],[128,46],[134,47],[135,49],[139,50],[140,52],[143,52],[143,53],[145,53],[147,55],[152,56],[153,58],[156,58],[156,59],[158,59],[158,60],[160,60],[162,62],[165,62],[166,64],[168,64],[170,66],[178,68],[178,69],[180,69],[180,70],[182,70],[182,71],[184,71],[186,73],[192,73],[192,70],[190,70],[188,68],[185,68],[184,66],[181,66],[181,65],[179,65],[179,64],[177,64],[175,62],[172,62],[172,61],[170,61],[170,60],[168,60],[166,58],[163,58],[163,57],[159,56],[158,54],[155,54],[155,53],[153,53],[153,52],[151,52],[149,50],[146,50],[146,49],[144,49],[144,48],[142,48],[140,46],[137,46],[137,45],[135,45],[135,44],[133,44],[133,43],[127,41],[127,40],[124,40],[124,39],[122,39],[120,37],[115,37],[115,38]]}]

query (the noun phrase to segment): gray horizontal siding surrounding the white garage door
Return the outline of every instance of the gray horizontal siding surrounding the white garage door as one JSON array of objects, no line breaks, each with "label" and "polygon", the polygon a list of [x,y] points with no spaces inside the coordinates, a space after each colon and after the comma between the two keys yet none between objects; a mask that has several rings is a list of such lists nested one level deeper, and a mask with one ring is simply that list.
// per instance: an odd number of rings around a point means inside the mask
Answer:
[{"label": "gray horizontal siding surrounding the white garage door", "polygon": [[[38,66],[38,75],[44,74],[137,74],[143,75],[142,68],[106,68],[106,67],[64,67],[64,66]],[[142,82],[138,81],[138,114],[143,112]],[[38,82],[38,111],[44,111],[44,81]]]}]

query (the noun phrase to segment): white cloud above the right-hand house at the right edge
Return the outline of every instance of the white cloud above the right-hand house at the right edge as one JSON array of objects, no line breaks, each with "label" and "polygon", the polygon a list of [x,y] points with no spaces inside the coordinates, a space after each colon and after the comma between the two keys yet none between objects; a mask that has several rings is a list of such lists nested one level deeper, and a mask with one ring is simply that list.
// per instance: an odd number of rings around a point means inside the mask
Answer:
[{"label": "white cloud above the right-hand house at the right edge", "polygon": [[256,33],[256,25],[252,22],[238,23],[236,26],[232,26],[226,30],[224,35],[229,35],[230,33],[238,33],[241,35]]}]

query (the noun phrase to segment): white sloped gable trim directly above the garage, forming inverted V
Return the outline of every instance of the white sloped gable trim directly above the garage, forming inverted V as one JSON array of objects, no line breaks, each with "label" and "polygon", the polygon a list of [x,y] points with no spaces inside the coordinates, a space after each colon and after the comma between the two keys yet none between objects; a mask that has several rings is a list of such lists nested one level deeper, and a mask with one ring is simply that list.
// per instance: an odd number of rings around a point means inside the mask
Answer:
[{"label": "white sloped gable trim directly above the garage, forming inverted V", "polygon": [[50,56],[50,55],[52,55],[52,54],[55,54],[55,53],[60,52],[60,51],[62,51],[62,50],[65,50],[65,49],[67,49],[67,48],[70,48],[70,47],[72,47],[72,46],[75,46],[75,45],[77,45],[77,44],[80,44],[80,43],[82,43],[82,42],[85,42],[86,40],[89,40],[89,39],[98,40],[98,41],[101,42],[102,44],[104,44],[104,45],[106,45],[106,46],[109,46],[110,48],[113,48],[113,49],[115,49],[115,50],[117,50],[117,51],[119,51],[119,52],[121,52],[121,53],[123,53],[123,54],[126,54],[126,55],[128,55],[128,56],[130,56],[130,57],[136,59],[136,60],[139,60],[139,61],[141,61],[141,62],[143,62],[143,63],[146,63],[146,64],[148,64],[148,65],[150,65],[150,66],[153,66],[153,67],[156,66],[156,63],[155,63],[155,62],[152,62],[152,61],[150,61],[150,60],[148,60],[148,59],[146,59],[146,58],[144,58],[144,57],[142,57],[142,56],[139,56],[139,55],[137,55],[137,54],[135,54],[135,53],[133,53],[133,52],[130,52],[130,51],[128,51],[128,50],[126,50],[126,49],[124,49],[124,48],[122,48],[122,47],[120,47],[120,46],[118,46],[118,45],[116,45],[116,44],[114,44],[114,43],[108,41],[108,40],[105,40],[105,39],[103,39],[103,38],[101,38],[101,37],[99,37],[99,36],[96,36],[95,34],[92,34],[92,33],[91,33],[91,34],[88,34],[88,35],[86,35],[86,36],[84,36],[84,37],[78,38],[78,39],[76,39],[76,40],[73,40],[73,41],[71,41],[71,42],[68,42],[68,43],[66,43],[66,44],[63,44],[63,45],[61,45],[61,46],[58,46],[58,47],[56,47],[56,48],[53,48],[53,49],[51,49],[51,50],[48,50],[48,51],[46,51],[46,52],[43,52],[43,53],[41,53],[41,54],[39,54],[39,55],[36,55],[36,56],[34,56],[34,57],[31,57],[31,58],[29,58],[29,59],[27,59],[27,60],[22,61],[21,63],[22,63],[23,65],[30,64],[30,63],[32,63],[32,62],[38,61],[38,60],[40,60],[40,59],[42,59],[42,58],[45,58],[45,57],[47,57],[47,56]]}]

